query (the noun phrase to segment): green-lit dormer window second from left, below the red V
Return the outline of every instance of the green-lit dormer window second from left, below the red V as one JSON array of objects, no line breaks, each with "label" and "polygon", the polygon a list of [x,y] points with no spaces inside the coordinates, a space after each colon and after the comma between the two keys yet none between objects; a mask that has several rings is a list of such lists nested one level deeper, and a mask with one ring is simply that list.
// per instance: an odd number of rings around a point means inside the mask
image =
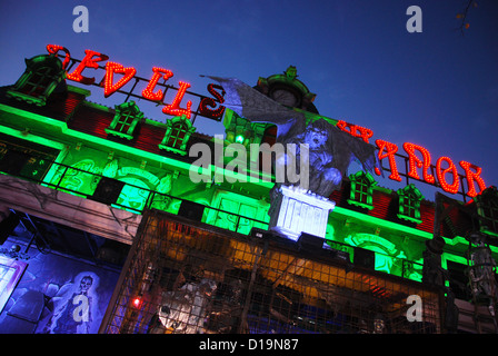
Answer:
[{"label": "green-lit dormer window second from left, below the red V", "polygon": [[111,125],[106,129],[109,135],[119,136],[131,140],[137,123],[143,118],[143,112],[140,111],[135,101],[123,102],[116,106],[116,115]]}]

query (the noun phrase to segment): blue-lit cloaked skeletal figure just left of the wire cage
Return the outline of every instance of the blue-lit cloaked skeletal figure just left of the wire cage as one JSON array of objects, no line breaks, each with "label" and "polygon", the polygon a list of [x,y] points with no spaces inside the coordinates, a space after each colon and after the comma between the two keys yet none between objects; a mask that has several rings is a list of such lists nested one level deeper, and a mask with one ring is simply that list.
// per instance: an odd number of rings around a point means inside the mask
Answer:
[{"label": "blue-lit cloaked skeletal figure just left of the wire cage", "polygon": [[98,305],[94,293],[99,277],[91,271],[80,273],[74,283],[61,287],[52,298],[53,314],[47,323],[46,334],[91,334]]}]

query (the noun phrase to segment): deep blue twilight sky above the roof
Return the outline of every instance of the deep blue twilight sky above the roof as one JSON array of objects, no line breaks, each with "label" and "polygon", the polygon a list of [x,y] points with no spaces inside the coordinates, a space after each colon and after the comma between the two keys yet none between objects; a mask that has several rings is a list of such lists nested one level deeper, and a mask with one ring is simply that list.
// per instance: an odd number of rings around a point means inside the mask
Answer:
[{"label": "deep blue twilight sky above the roof", "polygon": [[[467,2],[0,0],[0,86],[14,83],[23,59],[46,53],[48,43],[78,59],[86,49],[103,52],[145,78],[163,67],[175,83],[188,81],[202,95],[209,81],[199,75],[252,86],[293,65],[317,93],[321,115],[368,127],[374,140],[397,144],[401,152],[404,142],[414,142],[432,162],[449,156],[459,172],[458,161],[469,161],[482,167],[487,185],[498,185],[498,1],[477,0],[462,36],[456,16]],[[89,10],[88,33],[72,29],[80,4]],[[420,33],[406,29],[410,6],[422,11]],[[89,89],[89,100],[119,103]],[[158,107],[142,110],[165,117]],[[196,123],[205,134],[223,132],[213,121]]]}]

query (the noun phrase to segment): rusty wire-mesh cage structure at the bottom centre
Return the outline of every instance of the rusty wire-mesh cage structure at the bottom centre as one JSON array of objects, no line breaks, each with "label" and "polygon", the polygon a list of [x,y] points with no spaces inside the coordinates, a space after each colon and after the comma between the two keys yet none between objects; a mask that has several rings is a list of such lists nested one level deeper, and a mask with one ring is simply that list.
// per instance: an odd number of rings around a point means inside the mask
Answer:
[{"label": "rusty wire-mesh cage structure at the bottom centre", "polygon": [[[409,322],[409,296],[421,315]],[[100,332],[112,334],[441,333],[441,295],[307,251],[150,210]]]}]

